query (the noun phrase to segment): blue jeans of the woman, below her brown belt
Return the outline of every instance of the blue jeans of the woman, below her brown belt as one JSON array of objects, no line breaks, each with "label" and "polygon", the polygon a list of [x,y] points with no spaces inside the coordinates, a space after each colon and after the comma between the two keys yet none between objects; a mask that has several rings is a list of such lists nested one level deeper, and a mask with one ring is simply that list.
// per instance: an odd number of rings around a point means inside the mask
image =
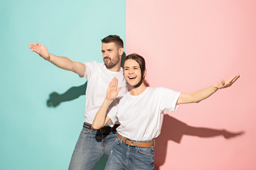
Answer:
[{"label": "blue jeans of the woman, below her brown belt", "polygon": [[[137,142],[151,142],[137,141]],[[126,145],[117,137],[105,170],[154,169],[154,146],[149,148]]]}]

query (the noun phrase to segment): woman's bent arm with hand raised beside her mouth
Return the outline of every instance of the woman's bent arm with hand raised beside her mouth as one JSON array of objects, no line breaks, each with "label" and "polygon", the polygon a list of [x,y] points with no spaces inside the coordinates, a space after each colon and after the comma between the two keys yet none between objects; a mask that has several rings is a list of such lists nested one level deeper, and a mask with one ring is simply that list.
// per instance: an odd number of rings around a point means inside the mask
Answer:
[{"label": "woman's bent arm with hand raised beside her mouth", "polygon": [[100,106],[99,111],[95,115],[95,119],[92,122],[92,128],[97,130],[102,128],[104,125],[109,123],[111,120],[108,116],[106,116],[107,108],[110,106],[110,102],[117,97],[121,87],[117,89],[118,80],[114,77],[110,82],[110,85],[107,88],[107,96],[105,97],[102,106]]}]

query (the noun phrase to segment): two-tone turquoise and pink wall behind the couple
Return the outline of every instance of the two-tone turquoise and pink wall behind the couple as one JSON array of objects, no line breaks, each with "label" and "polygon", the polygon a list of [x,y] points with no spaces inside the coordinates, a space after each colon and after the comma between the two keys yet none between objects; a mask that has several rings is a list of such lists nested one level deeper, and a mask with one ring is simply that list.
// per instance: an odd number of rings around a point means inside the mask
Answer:
[{"label": "two-tone turquoise and pink wall behind the couple", "polygon": [[68,169],[82,128],[86,79],[28,43],[101,62],[100,40],[110,34],[120,35],[127,55],[145,57],[152,87],[193,92],[241,75],[230,89],[166,113],[156,169],[256,169],[255,7],[249,0],[1,2],[0,169]]}]

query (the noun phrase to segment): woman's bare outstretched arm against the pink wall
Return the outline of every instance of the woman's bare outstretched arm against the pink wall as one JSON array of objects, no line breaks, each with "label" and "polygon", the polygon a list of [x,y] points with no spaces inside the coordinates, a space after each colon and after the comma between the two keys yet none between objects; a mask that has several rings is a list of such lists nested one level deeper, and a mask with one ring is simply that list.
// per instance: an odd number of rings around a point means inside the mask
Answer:
[{"label": "woman's bare outstretched arm against the pink wall", "polygon": [[178,97],[177,104],[198,103],[200,101],[203,101],[204,99],[208,98],[216,91],[218,91],[218,89],[224,89],[231,86],[239,77],[240,75],[237,74],[234,77],[231,77],[228,81],[221,80],[220,82],[215,83],[206,89],[196,91],[192,94],[181,93]]}]

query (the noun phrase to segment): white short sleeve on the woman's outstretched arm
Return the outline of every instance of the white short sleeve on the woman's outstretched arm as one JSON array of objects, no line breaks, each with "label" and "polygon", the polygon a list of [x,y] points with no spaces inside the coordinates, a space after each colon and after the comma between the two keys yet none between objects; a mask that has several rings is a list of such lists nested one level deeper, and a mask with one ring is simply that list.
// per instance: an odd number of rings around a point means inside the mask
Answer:
[{"label": "white short sleeve on the woman's outstretched arm", "polygon": [[178,108],[178,105],[176,103],[181,92],[160,87],[159,93],[161,98],[161,111],[176,111],[176,109]]}]

